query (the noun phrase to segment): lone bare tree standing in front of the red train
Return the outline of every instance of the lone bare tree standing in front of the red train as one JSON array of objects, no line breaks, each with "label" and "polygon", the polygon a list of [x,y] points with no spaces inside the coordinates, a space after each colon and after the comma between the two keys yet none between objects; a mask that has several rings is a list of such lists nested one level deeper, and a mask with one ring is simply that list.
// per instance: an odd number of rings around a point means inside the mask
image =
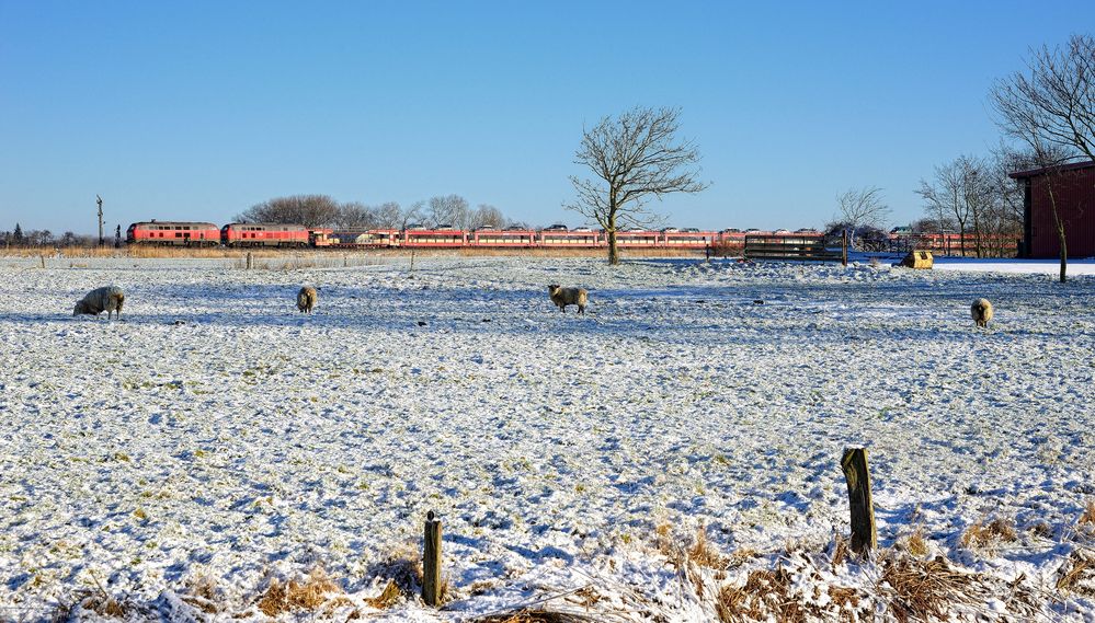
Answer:
[{"label": "lone bare tree standing in front of the red train", "polygon": [[677,141],[678,108],[635,107],[616,118],[605,117],[582,130],[574,163],[593,172],[592,178],[570,176],[578,194],[568,205],[596,221],[608,235],[608,263],[619,264],[616,232],[621,227],[649,227],[651,197],[699,193],[699,151],[689,140]]}]

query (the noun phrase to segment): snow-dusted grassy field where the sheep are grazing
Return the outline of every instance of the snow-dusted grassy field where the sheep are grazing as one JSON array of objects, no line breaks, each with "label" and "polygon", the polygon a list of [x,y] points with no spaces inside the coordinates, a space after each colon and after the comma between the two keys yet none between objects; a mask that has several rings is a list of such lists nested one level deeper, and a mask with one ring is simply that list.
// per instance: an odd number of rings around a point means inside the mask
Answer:
[{"label": "snow-dusted grassy field where the sheep are grazing", "polygon": [[[1080,521],[1095,500],[1095,276],[81,262],[0,258],[2,620],[88,596],[72,612],[94,619],[105,593],[130,619],[259,621],[272,579],[317,567],[346,595],[283,619],[467,620],[545,600],[702,621],[758,568],[792,572],[824,616],[840,586],[860,591],[860,616],[892,618],[882,563],[833,561],[852,446],[870,453],[880,546],[921,534],[923,559],[988,587],[949,612],[1095,620],[1095,524]],[[304,282],[321,288],[311,316],[294,308]],[[589,313],[559,313],[552,282],[589,288]],[[126,291],[121,322],[71,316],[106,284]],[[970,319],[982,296],[988,330]],[[368,608],[427,510],[448,605]],[[1014,539],[961,543],[997,519]],[[728,568],[673,559],[699,530]]]}]

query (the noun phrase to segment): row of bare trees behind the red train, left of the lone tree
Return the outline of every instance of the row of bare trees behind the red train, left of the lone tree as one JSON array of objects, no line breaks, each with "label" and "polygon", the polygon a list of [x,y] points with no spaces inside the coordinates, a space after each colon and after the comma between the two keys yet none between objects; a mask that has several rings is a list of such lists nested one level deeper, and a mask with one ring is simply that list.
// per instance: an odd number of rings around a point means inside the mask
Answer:
[{"label": "row of bare trees behind the red train, left of the lone tree", "polygon": [[240,222],[300,223],[310,228],[341,230],[404,229],[410,224],[450,226],[455,229],[502,228],[517,223],[502,210],[481,204],[476,208],[459,195],[433,197],[400,206],[395,201],[367,205],[361,201],[340,204],[328,195],[293,195],[255,204],[236,216]]}]

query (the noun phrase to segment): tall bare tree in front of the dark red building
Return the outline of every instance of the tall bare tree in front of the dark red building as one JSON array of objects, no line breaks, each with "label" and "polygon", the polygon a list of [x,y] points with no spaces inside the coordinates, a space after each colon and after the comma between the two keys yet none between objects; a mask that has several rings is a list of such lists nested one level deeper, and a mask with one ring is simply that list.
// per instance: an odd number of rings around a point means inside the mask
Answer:
[{"label": "tall bare tree in front of the dark red building", "polygon": [[[1004,132],[1027,146],[1042,168],[1069,160],[1095,162],[1095,38],[1073,35],[1061,47],[1033,50],[1027,71],[1016,71],[993,86],[990,101]],[[1057,209],[1053,174],[1046,176],[1065,281],[1065,222]]]}]

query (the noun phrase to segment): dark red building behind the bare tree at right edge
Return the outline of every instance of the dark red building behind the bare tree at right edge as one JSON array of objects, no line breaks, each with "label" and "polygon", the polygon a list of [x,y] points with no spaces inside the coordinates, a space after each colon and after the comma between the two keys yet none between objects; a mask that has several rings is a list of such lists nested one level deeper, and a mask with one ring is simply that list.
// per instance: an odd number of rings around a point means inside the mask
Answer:
[{"label": "dark red building behind the bare tree at right edge", "polygon": [[1011,176],[1024,188],[1022,257],[1060,255],[1054,204],[1064,222],[1069,257],[1095,256],[1095,162],[1019,171]]}]

